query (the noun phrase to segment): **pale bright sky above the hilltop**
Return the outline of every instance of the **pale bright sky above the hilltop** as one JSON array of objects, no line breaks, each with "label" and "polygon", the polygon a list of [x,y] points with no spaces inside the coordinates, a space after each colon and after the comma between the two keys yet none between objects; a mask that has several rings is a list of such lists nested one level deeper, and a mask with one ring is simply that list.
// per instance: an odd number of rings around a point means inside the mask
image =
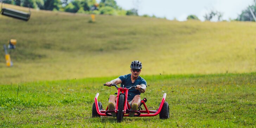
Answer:
[{"label": "pale bright sky above the hilltop", "polygon": [[116,0],[125,10],[136,8],[139,15],[148,14],[169,20],[185,21],[188,15],[196,15],[204,21],[211,10],[221,12],[223,20],[236,19],[242,10],[254,0]]}]

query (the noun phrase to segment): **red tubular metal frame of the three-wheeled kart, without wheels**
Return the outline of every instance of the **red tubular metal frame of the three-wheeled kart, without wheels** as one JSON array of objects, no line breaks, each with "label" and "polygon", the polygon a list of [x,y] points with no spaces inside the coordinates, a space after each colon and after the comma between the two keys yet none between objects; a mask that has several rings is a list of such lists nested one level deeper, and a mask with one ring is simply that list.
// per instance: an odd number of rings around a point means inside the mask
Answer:
[{"label": "red tubular metal frame of the three-wheeled kart, without wheels", "polygon": [[[128,98],[128,89],[127,89],[127,88],[118,88],[118,92],[117,92],[117,96],[116,96],[116,97],[117,97],[116,101],[119,100],[120,92],[121,92],[122,94],[124,94],[124,92],[125,92],[125,96],[126,96],[126,98],[125,98],[125,103],[126,103],[126,104],[124,104],[124,116],[129,116],[129,114],[126,113],[126,110],[130,109],[130,105],[129,105],[129,103],[127,102],[127,98]],[[95,98],[94,98],[97,113],[98,113],[100,116],[107,116],[107,115],[105,114],[105,112],[108,110],[108,107],[106,108],[106,110],[100,110],[100,109],[99,109],[99,107],[98,107],[98,96],[99,96],[99,93],[97,93],[96,96],[95,96]],[[143,105],[144,105],[144,107],[145,107],[146,110],[138,110],[138,111],[140,111],[140,113],[141,113],[140,116],[138,116],[138,117],[147,117],[147,116],[156,116],[156,115],[158,115],[158,114],[160,113],[160,111],[162,110],[162,107],[163,107],[164,102],[165,102],[165,98],[166,98],[166,93],[164,93],[163,98],[162,98],[162,101],[161,101],[161,103],[160,103],[160,105],[159,105],[159,108],[156,109],[156,110],[148,110],[148,108],[147,108],[145,102],[142,101],[142,103],[143,103]],[[117,113],[117,110],[118,110],[118,102],[116,102],[116,109],[115,109],[115,112],[116,112],[116,113]],[[144,114],[144,113],[145,113],[145,114]]]}]

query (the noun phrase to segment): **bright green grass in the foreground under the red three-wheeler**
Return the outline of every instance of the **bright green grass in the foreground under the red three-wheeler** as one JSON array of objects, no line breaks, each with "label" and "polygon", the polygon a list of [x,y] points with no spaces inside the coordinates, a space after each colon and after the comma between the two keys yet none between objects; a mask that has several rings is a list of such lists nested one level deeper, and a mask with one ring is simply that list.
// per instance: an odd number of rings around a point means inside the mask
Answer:
[{"label": "bright green grass in the foreground under the red three-wheeler", "polygon": [[[256,73],[143,76],[149,109],[167,93],[170,118],[91,118],[97,92],[106,108],[116,89],[103,83],[116,77],[0,85],[0,127],[255,127]],[[18,91],[19,87],[19,91]],[[17,95],[18,91],[18,95]]]}]

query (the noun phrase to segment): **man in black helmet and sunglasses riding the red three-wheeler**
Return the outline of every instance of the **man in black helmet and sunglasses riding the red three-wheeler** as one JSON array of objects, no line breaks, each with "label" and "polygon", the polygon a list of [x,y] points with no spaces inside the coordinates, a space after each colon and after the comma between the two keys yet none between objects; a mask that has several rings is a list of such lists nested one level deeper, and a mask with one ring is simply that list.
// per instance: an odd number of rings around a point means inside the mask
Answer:
[{"label": "man in black helmet and sunglasses riding the red three-wheeler", "polygon": [[[140,72],[142,69],[142,64],[139,60],[134,60],[130,66],[130,74],[119,76],[116,79],[113,79],[110,82],[106,82],[106,85],[108,87],[111,87],[111,84],[120,84],[121,87],[127,87],[127,86],[136,86],[137,88],[132,88],[129,90],[128,94],[128,102],[130,106],[132,106],[132,110],[137,110],[137,108],[140,105],[140,94],[144,93],[147,88],[147,82],[145,79],[140,77]],[[109,103],[108,103],[108,109],[114,110],[116,105],[116,96],[110,95],[109,96]],[[130,113],[129,116],[133,117],[135,113]],[[116,113],[111,113],[113,117],[116,117]]]}]

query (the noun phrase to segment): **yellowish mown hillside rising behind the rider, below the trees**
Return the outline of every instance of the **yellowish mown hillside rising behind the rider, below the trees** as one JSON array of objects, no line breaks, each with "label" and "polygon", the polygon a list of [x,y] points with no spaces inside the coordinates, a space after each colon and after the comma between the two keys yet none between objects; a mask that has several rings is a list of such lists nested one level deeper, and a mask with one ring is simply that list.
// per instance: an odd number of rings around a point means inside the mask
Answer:
[{"label": "yellowish mown hillside rising behind the rider, below the trees", "polygon": [[135,59],[144,75],[256,71],[255,23],[97,15],[90,24],[89,18],[32,10],[24,22],[0,15],[1,46],[18,40],[12,68],[0,52],[0,84],[117,76]]}]

